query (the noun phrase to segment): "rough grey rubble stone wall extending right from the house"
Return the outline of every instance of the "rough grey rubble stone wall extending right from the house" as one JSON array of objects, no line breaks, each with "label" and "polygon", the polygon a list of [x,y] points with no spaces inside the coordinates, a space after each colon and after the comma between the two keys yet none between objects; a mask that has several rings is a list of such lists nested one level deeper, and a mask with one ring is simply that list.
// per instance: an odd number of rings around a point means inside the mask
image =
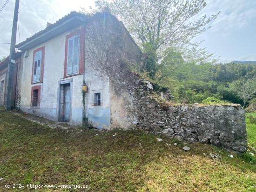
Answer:
[{"label": "rough grey rubble stone wall extending right from the house", "polygon": [[[137,84],[137,85],[136,85]],[[238,152],[247,147],[245,113],[238,106],[171,106],[155,99],[148,81],[128,88],[129,103],[123,110],[133,129],[163,134],[180,141],[209,143]],[[127,93],[119,94],[127,97]],[[120,98],[119,98],[120,99]]]}]

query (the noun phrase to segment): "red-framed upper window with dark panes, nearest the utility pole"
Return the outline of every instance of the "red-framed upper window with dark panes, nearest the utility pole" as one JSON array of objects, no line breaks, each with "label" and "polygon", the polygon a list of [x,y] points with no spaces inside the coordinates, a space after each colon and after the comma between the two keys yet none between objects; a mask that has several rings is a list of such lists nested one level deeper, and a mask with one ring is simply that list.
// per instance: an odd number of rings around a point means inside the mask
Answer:
[{"label": "red-framed upper window with dark panes, nearest the utility pole", "polygon": [[42,46],[34,50],[31,84],[43,82],[44,54],[45,54],[45,46]]}]

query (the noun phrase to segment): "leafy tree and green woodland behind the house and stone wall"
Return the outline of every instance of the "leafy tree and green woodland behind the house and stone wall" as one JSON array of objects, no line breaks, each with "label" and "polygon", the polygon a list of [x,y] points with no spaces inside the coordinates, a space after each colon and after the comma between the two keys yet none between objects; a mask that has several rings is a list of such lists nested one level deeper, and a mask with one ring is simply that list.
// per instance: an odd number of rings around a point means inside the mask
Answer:
[{"label": "leafy tree and green woodland behind the house and stone wall", "polygon": [[176,102],[214,97],[245,108],[256,97],[256,65],[218,64],[214,54],[192,43],[218,16],[200,16],[206,0],[96,0],[95,5],[93,12],[107,10],[127,26],[143,52],[141,72],[168,87]]}]

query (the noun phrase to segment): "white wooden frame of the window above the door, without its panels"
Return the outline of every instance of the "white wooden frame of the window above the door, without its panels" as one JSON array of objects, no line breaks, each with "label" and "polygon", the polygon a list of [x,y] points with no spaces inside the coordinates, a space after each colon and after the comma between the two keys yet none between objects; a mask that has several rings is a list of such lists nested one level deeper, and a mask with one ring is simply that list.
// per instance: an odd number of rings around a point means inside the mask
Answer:
[{"label": "white wooden frame of the window above the door, without its panels", "polygon": [[[74,71],[74,39],[78,39],[78,51],[77,51],[77,70]],[[69,55],[69,41],[73,40],[73,45],[72,45],[72,56]],[[67,76],[69,75],[74,75],[74,74],[79,74],[79,68],[80,68],[80,34],[74,35],[70,38],[67,39],[67,66],[66,66],[66,71],[67,71]],[[69,65],[69,57],[72,57],[71,59],[71,66]],[[68,70],[68,67],[71,67],[71,72]]]}]

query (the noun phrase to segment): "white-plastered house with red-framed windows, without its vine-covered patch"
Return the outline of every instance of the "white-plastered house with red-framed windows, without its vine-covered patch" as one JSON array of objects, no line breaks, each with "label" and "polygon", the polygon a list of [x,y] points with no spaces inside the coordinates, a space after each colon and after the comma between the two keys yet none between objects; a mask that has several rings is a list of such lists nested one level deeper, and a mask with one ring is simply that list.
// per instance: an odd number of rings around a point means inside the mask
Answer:
[{"label": "white-plastered house with red-framed windows, without its vine-covered patch", "polygon": [[[100,129],[112,127],[111,120],[118,117],[111,116],[116,106],[110,100],[110,82],[97,77],[85,60],[85,46],[89,46],[85,38],[87,25],[106,14],[108,19],[119,22],[106,12],[93,16],[71,12],[16,46],[23,52],[18,72],[18,108],[70,125],[88,121]],[[140,64],[141,51],[119,23],[128,59]],[[88,92],[83,96],[84,83]]]}]

